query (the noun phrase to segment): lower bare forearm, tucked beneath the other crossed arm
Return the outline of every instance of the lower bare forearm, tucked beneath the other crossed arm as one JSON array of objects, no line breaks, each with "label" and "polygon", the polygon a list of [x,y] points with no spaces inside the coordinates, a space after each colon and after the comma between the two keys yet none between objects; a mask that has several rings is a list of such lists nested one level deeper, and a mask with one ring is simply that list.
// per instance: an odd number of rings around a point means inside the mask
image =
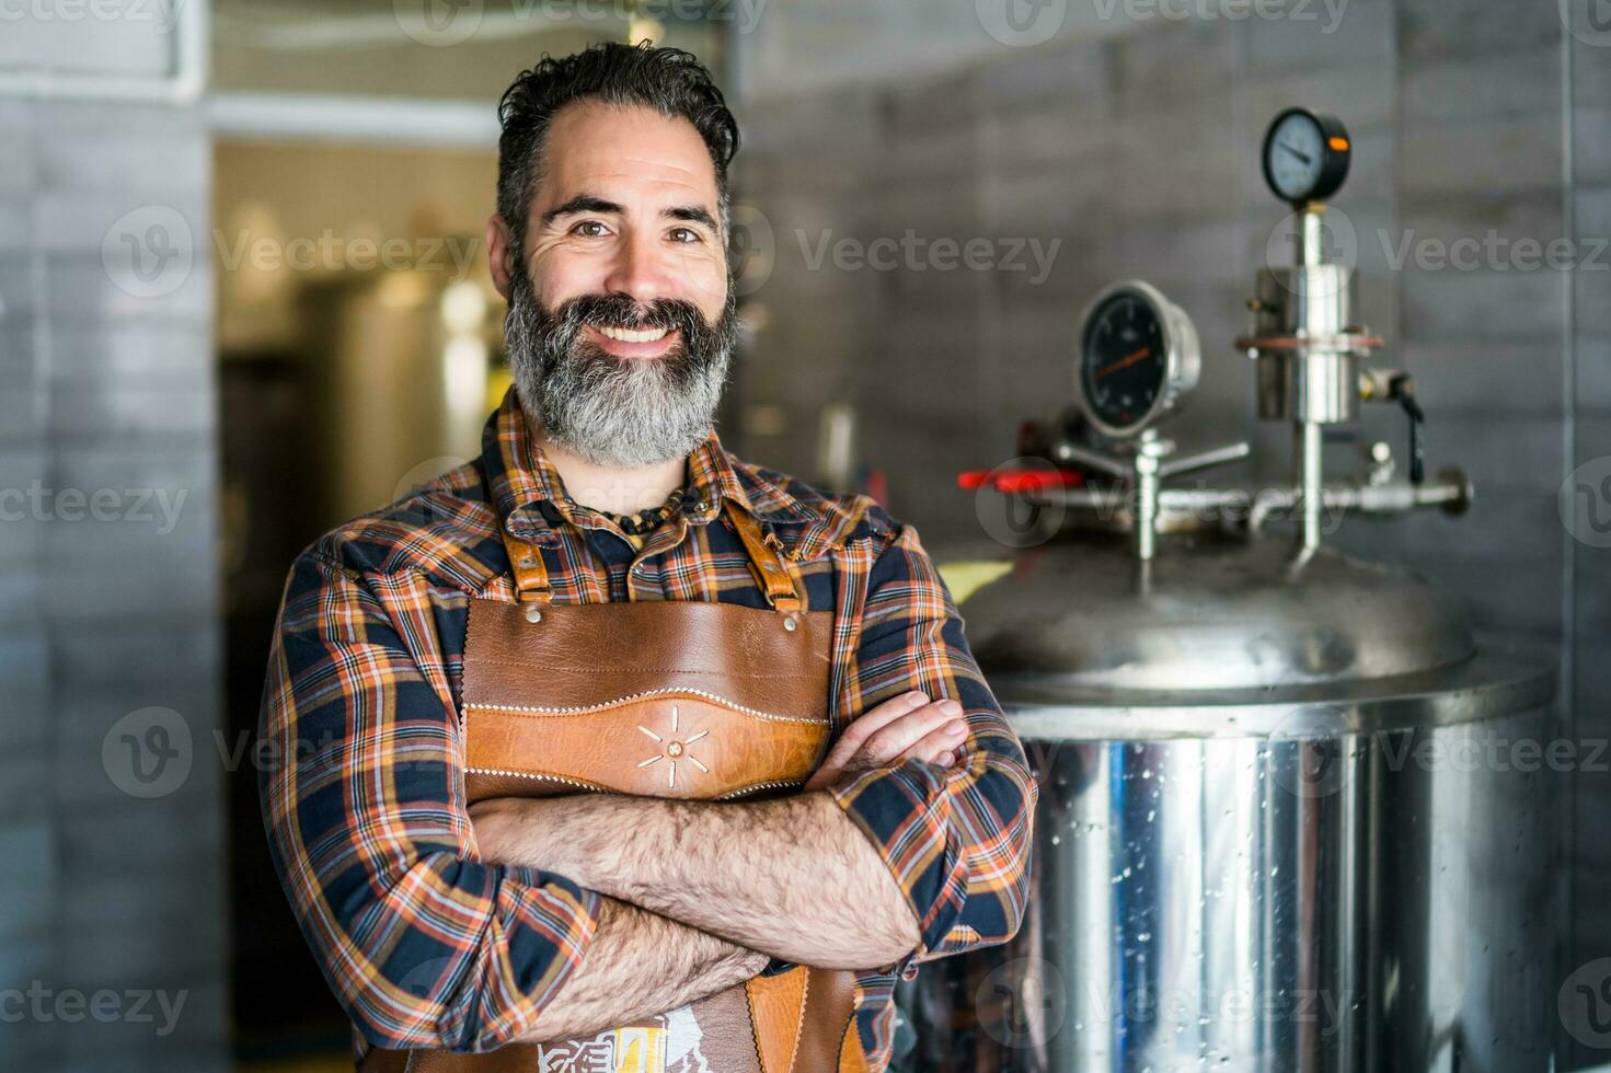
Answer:
[{"label": "lower bare forearm, tucked beneath the other crossed arm", "polygon": [[519,1042],[591,1036],[739,984],[767,955],[606,897],[586,954]]}]

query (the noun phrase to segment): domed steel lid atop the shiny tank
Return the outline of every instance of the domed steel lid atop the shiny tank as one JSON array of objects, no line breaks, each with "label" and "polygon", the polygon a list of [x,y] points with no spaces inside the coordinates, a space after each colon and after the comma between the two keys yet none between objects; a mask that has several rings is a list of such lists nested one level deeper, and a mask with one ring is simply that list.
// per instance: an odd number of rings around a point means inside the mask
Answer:
[{"label": "domed steel lid atop the shiny tank", "polygon": [[1278,691],[1476,652],[1426,582],[1331,548],[1300,561],[1287,540],[1199,535],[1162,541],[1142,564],[1121,540],[1076,535],[1008,554],[1012,569],[960,604],[1002,702],[1015,678],[1041,702],[1062,690]]}]

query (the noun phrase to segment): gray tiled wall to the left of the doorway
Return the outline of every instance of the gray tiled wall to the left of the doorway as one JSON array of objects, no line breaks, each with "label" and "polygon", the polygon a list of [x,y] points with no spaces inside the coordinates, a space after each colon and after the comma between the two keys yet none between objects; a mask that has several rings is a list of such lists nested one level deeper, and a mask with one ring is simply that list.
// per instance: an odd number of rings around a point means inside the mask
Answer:
[{"label": "gray tiled wall to the left of the doorway", "polygon": [[[150,26],[40,10],[0,72],[164,68]],[[156,259],[206,235],[209,171],[193,106],[0,93],[6,1070],[227,1067],[213,287]],[[142,796],[158,746],[190,770]]]}]

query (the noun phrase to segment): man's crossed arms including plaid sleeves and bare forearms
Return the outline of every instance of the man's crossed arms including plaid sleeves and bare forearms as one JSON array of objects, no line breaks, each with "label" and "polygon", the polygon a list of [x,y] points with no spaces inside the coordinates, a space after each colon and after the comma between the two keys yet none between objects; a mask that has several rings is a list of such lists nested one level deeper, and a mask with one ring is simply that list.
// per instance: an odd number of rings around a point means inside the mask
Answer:
[{"label": "man's crossed arms including plaid sleeves and bare forearms", "polygon": [[[907,972],[1010,938],[1036,801],[1023,751],[915,530],[881,551],[865,591],[838,698],[857,720],[807,793],[470,814],[433,644],[453,612],[417,570],[359,569],[340,541],[300,557],[259,727],[288,762],[259,789],[282,884],[364,1038],[487,1050],[673,1009],[768,955]],[[926,706],[899,752],[851,748],[859,723],[912,690],[959,702],[960,746],[912,752],[950,722]]]}]

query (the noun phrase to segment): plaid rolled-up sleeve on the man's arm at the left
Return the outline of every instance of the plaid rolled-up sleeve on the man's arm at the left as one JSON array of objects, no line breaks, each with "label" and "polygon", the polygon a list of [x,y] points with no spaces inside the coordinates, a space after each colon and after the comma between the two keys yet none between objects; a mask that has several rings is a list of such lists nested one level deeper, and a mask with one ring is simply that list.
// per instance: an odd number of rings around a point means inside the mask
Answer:
[{"label": "plaid rolled-up sleeve on the man's arm at the left", "polygon": [[292,567],[259,717],[263,820],[337,1000],[374,1046],[478,1052],[519,1038],[580,962],[599,896],[475,859],[456,710],[366,577]]}]

